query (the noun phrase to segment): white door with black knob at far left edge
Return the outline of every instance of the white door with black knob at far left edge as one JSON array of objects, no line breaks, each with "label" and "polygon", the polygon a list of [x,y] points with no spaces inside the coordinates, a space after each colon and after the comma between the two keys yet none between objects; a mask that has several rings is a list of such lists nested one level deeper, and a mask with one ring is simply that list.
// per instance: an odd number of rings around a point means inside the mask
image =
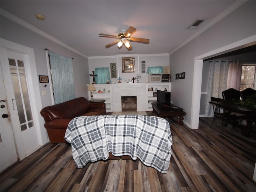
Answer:
[{"label": "white door with black knob at far left edge", "polygon": [[4,80],[2,70],[0,68],[0,156],[1,169],[0,172],[8,168],[10,165],[18,161],[12,124],[10,122],[10,113],[6,102],[6,93],[4,88]]}]

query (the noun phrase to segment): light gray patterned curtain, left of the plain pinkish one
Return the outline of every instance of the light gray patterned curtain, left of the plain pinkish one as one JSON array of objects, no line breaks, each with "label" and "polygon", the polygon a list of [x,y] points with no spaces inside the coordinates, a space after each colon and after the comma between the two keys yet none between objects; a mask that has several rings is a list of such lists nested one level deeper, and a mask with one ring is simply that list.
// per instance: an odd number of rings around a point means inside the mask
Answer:
[{"label": "light gray patterned curtain, left of the plain pinkish one", "polygon": [[212,105],[209,104],[211,97],[222,98],[222,91],[227,88],[228,61],[210,62],[210,76],[208,82],[207,102],[205,116],[213,116]]}]

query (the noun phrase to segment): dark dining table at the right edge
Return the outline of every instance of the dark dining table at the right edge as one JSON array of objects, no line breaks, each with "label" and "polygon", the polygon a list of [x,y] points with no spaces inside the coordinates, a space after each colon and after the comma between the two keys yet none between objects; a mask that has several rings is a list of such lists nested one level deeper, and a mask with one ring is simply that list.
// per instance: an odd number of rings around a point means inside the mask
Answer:
[{"label": "dark dining table at the right edge", "polygon": [[242,135],[250,137],[250,132],[252,131],[252,119],[256,115],[256,108],[254,108],[254,106],[242,106],[239,102],[225,101],[223,102],[223,109],[246,115],[246,126],[242,127]]}]

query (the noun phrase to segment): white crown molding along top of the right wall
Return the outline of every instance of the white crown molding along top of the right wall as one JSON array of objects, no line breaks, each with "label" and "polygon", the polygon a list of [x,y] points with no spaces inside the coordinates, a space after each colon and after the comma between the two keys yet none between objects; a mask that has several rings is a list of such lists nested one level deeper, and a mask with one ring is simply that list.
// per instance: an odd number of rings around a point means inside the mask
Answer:
[{"label": "white crown molding along top of the right wall", "polygon": [[202,32],[216,24],[218,21],[220,21],[222,18],[226,17],[228,14],[230,14],[232,11],[236,10],[238,7],[240,7],[242,4],[244,4],[247,0],[237,0],[232,5],[230,5],[228,8],[226,8],[223,12],[218,14],[215,18],[213,18],[210,22],[208,22],[205,26],[200,28],[197,32],[195,32],[192,36],[184,40],[180,45],[178,45],[176,48],[174,48],[172,51],[169,52],[169,54],[173,54],[180,48],[182,48],[184,45],[186,45],[188,42],[196,38],[198,35],[200,35]]}]

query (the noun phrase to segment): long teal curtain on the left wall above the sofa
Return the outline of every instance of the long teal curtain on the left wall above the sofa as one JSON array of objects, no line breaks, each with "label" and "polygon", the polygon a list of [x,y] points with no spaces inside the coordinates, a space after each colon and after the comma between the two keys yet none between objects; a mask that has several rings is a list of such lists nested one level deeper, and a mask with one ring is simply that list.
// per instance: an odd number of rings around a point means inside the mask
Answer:
[{"label": "long teal curtain on the left wall above the sofa", "polygon": [[54,104],[74,99],[72,59],[49,51],[54,90]]}]

